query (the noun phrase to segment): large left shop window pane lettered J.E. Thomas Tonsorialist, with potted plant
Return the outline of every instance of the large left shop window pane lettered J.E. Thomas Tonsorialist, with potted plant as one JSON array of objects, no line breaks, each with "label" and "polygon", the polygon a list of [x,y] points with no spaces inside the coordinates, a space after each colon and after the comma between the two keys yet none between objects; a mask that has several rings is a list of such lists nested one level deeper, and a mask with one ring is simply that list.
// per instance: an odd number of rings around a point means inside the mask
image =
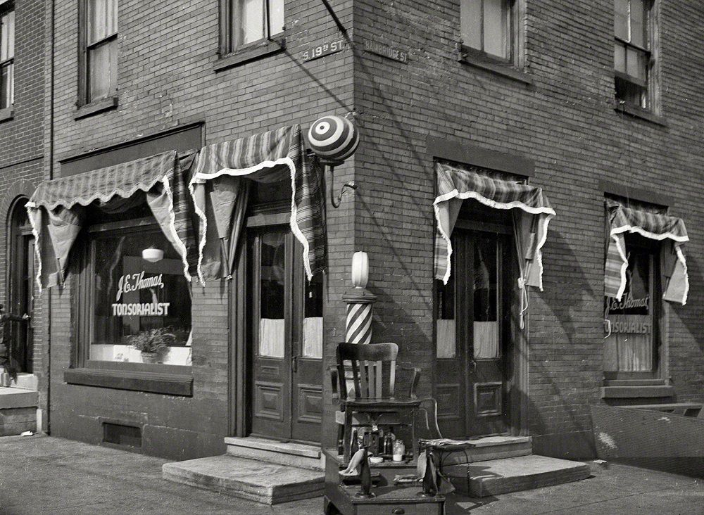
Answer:
[{"label": "large left shop window pane lettered J.E. Thomas Tonsorialist, with potted plant", "polygon": [[[142,258],[146,246],[164,251],[163,258]],[[173,335],[163,364],[191,364],[191,293],[183,263],[158,229],[106,231],[92,239],[95,281],[92,284],[90,359],[142,362],[134,336],[153,329]]]}]

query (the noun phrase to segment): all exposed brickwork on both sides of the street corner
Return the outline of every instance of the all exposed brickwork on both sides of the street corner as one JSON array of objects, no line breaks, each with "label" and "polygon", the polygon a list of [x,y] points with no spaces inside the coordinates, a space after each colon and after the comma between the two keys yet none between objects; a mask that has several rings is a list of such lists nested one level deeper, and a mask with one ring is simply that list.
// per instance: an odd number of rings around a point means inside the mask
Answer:
[{"label": "all exposed brickwork on both sides of the street corner", "polygon": [[[356,49],[303,63],[300,53],[340,37],[317,0],[286,4],[287,49],[215,72],[218,2],[120,2],[119,106],[74,120],[77,3],[59,0],[55,34],[44,30],[39,1],[18,6],[15,120],[0,125],[0,195],[14,177],[36,183],[59,161],[95,148],[206,122],[206,144],[301,123],[325,113],[356,113],[363,136],[355,158],[336,169],[334,188],[356,180],[338,210],[328,205],[329,274],[325,365],[344,338],[354,250],[370,255],[373,341],[396,341],[403,362],[432,384],[434,173],[428,134],[534,160],[558,216],[543,249],[544,291],[529,316],[529,429],[534,435],[584,433],[588,405],[600,402],[603,360],[603,191],[598,179],[664,191],[684,217],[691,281],[686,307],[665,308],[665,358],[679,400],[702,400],[704,353],[704,52],[691,45],[704,24],[696,0],[657,2],[660,106],[667,127],[613,110],[613,3],[525,2],[524,71],[532,85],[458,62],[458,0],[333,2]],[[51,12],[46,7],[47,12]],[[39,31],[36,34],[32,31]],[[42,41],[54,42],[54,101],[42,68]],[[362,37],[408,51],[408,63],[365,53]],[[33,58],[32,58],[33,56]],[[31,63],[31,64],[30,64]],[[42,116],[54,113],[54,126]],[[6,130],[8,129],[8,130]],[[39,135],[39,136],[37,136]],[[42,162],[53,138],[54,160]],[[31,159],[39,158],[37,161]],[[0,242],[0,246],[3,245]],[[4,255],[4,254],[3,254]],[[5,267],[0,260],[0,272]],[[233,285],[237,287],[237,285]],[[2,285],[0,285],[2,288]],[[228,428],[230,349],[226,289],[194,287],[194,397],[101,390],[63,383],[72,352],[70,287],[51,301],[52,425],[99,439],[100,417],[144,424],[147,452],[180,459],[218,452]],[[0,289],[0,293],[3,293]],[[39,319],[37,319],[39,322]],[[46,327],[46,326],[45,326]],[[41,334],[40,334],[41,332]],[[42,340],[46,331],[37,331]],[[46,350],[37,352],[46,360]],[[329,381],[324,379],[327,409]],[[334,443],[327,414],[325,444]],[[73,431],[73,433],[72,433]],[[172,437],[174,445],[165,442]],[[558,438],[558,439],[559,439]],[[219,440],[218,440],[219,439]],[[562,441],[562,440],[560,440]],[[219,442],[219,443],[218,443]]]}]

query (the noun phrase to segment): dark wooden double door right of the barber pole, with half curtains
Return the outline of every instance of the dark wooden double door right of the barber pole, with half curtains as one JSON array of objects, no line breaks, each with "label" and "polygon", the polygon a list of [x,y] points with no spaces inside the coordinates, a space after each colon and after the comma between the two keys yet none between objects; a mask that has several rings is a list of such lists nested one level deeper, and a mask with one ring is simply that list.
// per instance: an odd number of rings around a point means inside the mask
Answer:
[{"label": "dark wooden double door right of the barber pole, with half curtains", "polygon": [[[464,224],[465,227],[472,227]],[[436,281],[434,395],[444,436],[510,430],[516,254],[510,226],[452,235],[451,276]]]}]

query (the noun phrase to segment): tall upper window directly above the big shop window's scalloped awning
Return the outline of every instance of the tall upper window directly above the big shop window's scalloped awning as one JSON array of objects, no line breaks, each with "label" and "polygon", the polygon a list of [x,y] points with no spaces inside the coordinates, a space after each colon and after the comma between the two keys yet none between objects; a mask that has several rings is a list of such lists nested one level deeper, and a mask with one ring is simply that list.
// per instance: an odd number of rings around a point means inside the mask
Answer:
[{"label": "tall upper window directly above the big shop window's scalloped awning", "polygon": [[86,0],[84,7],[82,103],[90,103],[118,89],[118,0]]}]

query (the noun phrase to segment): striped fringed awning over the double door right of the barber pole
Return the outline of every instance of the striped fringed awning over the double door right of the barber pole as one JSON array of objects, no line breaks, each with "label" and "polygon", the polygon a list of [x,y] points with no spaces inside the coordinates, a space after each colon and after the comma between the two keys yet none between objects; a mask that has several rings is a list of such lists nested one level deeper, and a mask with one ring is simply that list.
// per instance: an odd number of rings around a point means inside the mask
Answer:
[{"label": "striped fringed awning over the double door right of the barber pole", "polygon": [[543,190],[488,177],[475,167],[466,170],[436,163],[437,193],[433,203],[437,220],[435,238],[435,277],[447,283],[450,278],[452,244],[450,236],[460,207],[467,198],[495,209],[513,210],[515,237],[521,267],[521,286],[543,289],[541,248],[548,234],[548,223],[555,216]]}]

